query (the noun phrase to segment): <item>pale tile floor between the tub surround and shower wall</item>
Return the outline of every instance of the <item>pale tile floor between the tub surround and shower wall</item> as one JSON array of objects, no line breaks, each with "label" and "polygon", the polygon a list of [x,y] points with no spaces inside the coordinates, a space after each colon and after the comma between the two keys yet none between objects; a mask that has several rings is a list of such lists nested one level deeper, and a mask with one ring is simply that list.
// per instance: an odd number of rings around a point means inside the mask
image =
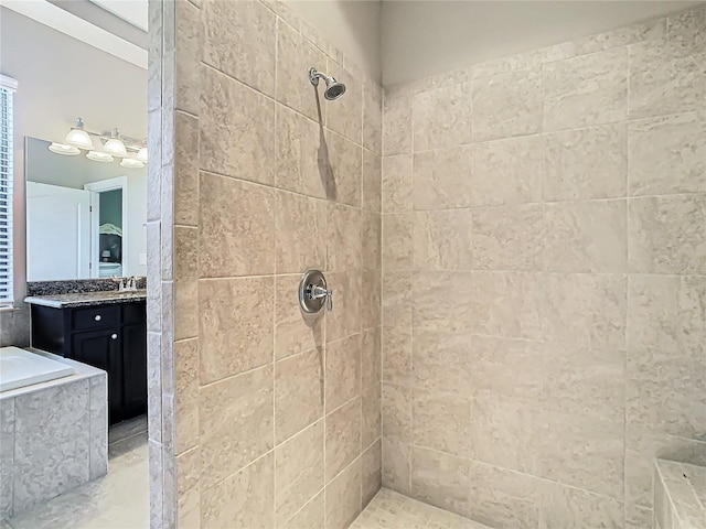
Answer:
[{"label": "pale tile floor between the tub surround and shower wall", "polygon": [[149,528],[147,420],[108,432],[108,474],[7,520],[2,529]]}]

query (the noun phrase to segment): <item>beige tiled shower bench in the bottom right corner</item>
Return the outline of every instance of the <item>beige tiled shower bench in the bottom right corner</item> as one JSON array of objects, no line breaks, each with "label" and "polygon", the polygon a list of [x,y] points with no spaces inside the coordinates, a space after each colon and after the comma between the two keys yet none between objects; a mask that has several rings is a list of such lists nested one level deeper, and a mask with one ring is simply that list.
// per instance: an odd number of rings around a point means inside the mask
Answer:
[{"label": "beige tiled shower bench in the bottom right corner", "polygon": [[706,467],[657,460],[654,483],[656,529],[706,527]]}]

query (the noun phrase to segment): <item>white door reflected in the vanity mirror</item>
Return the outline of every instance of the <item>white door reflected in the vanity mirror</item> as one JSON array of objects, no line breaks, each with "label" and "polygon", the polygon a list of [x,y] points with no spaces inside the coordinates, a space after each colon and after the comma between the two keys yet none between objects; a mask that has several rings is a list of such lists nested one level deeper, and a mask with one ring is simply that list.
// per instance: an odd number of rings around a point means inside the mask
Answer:
[{"label": "white door reflected in the vanity mirror", "polygon": [[90,194],[26,183],[28,281],[90,277]]}]

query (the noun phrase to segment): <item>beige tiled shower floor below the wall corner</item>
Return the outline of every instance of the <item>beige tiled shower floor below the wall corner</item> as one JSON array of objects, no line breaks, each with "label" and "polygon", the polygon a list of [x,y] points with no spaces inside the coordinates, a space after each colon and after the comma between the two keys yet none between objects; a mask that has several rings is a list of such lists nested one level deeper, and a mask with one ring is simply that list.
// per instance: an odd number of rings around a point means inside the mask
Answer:
[{"label": "beige tiled shower floor below the wall corner", "polygon": [[447,510],[381,488],[349,529],[490,529]]}]

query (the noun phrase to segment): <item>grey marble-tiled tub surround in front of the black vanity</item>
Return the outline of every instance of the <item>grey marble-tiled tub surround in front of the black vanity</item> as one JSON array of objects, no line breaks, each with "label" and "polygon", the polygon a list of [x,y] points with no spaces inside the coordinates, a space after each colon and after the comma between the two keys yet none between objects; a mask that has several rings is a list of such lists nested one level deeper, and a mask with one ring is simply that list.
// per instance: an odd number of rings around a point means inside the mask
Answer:
[{"label": "grey marble-tiled tub surround in front of the black vanity", "polygon": [[75,374],[0,396],[0,506],[17,516],[106,474],[107,376],[56,357]]}]

